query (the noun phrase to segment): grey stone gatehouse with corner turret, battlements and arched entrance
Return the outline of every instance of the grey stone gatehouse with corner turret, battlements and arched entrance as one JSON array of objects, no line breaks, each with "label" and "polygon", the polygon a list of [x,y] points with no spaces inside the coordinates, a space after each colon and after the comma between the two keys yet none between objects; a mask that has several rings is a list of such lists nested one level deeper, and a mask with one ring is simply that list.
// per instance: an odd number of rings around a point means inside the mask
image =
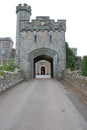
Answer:
[{"label": "grey stone gatehouse with corner turret, battlements and arched entrance", "polygon": [[16,7],[16,63],[28,78],[49,74],[59,79],[66,66],[66,21],[55,22],[48,16],[30,20],[31,7]]}]

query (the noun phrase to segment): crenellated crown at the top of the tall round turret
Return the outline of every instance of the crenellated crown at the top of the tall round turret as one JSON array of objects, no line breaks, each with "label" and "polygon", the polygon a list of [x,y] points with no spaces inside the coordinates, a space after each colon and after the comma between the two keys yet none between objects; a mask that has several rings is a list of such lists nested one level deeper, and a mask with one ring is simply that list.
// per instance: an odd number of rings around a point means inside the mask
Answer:
[{"label": "crenellated crown at the top of the tall round turret", "polygon": [[31,6],[28,6],[27,4],[19,4],[18,6],[16,6],[16,13],[22,10],[27,11],[31,14]]}]

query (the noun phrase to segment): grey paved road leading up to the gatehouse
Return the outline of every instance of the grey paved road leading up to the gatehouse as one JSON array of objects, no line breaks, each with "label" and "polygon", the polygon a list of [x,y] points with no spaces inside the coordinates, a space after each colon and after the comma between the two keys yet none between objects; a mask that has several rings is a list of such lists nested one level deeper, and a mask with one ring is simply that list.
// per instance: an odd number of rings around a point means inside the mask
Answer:
[{"label": "grey paved road leading up to the gatehouse", "polygon": [[24,82],[0,96],[0,130],[87,130],[87,106],[55,80]]}]

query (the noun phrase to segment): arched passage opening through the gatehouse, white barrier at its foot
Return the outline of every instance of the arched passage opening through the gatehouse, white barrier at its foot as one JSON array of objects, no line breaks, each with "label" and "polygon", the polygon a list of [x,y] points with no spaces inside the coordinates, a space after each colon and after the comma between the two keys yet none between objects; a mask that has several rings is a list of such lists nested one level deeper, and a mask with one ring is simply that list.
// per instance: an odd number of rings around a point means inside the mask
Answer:
[{"label": "arched passage opening through the gatehouse, white barrier at its foot", "polygon": [[40,55],[34,59],[35,78],[53,78],[53,58]]}]

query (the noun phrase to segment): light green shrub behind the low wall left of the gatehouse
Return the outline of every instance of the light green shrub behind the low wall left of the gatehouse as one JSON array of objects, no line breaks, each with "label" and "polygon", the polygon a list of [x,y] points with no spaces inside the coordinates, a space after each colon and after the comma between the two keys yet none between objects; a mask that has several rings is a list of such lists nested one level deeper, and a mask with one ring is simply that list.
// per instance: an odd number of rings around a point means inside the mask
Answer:
[{"label": "light green shrub behind the low wall left of the gatehouse", "polygon": [[13,72],[15,68],[18,68],[18,66],[14,63],[14,60],[5,61],[3,65],[0,67],[0,75],[3,74],[3,70]]}]

